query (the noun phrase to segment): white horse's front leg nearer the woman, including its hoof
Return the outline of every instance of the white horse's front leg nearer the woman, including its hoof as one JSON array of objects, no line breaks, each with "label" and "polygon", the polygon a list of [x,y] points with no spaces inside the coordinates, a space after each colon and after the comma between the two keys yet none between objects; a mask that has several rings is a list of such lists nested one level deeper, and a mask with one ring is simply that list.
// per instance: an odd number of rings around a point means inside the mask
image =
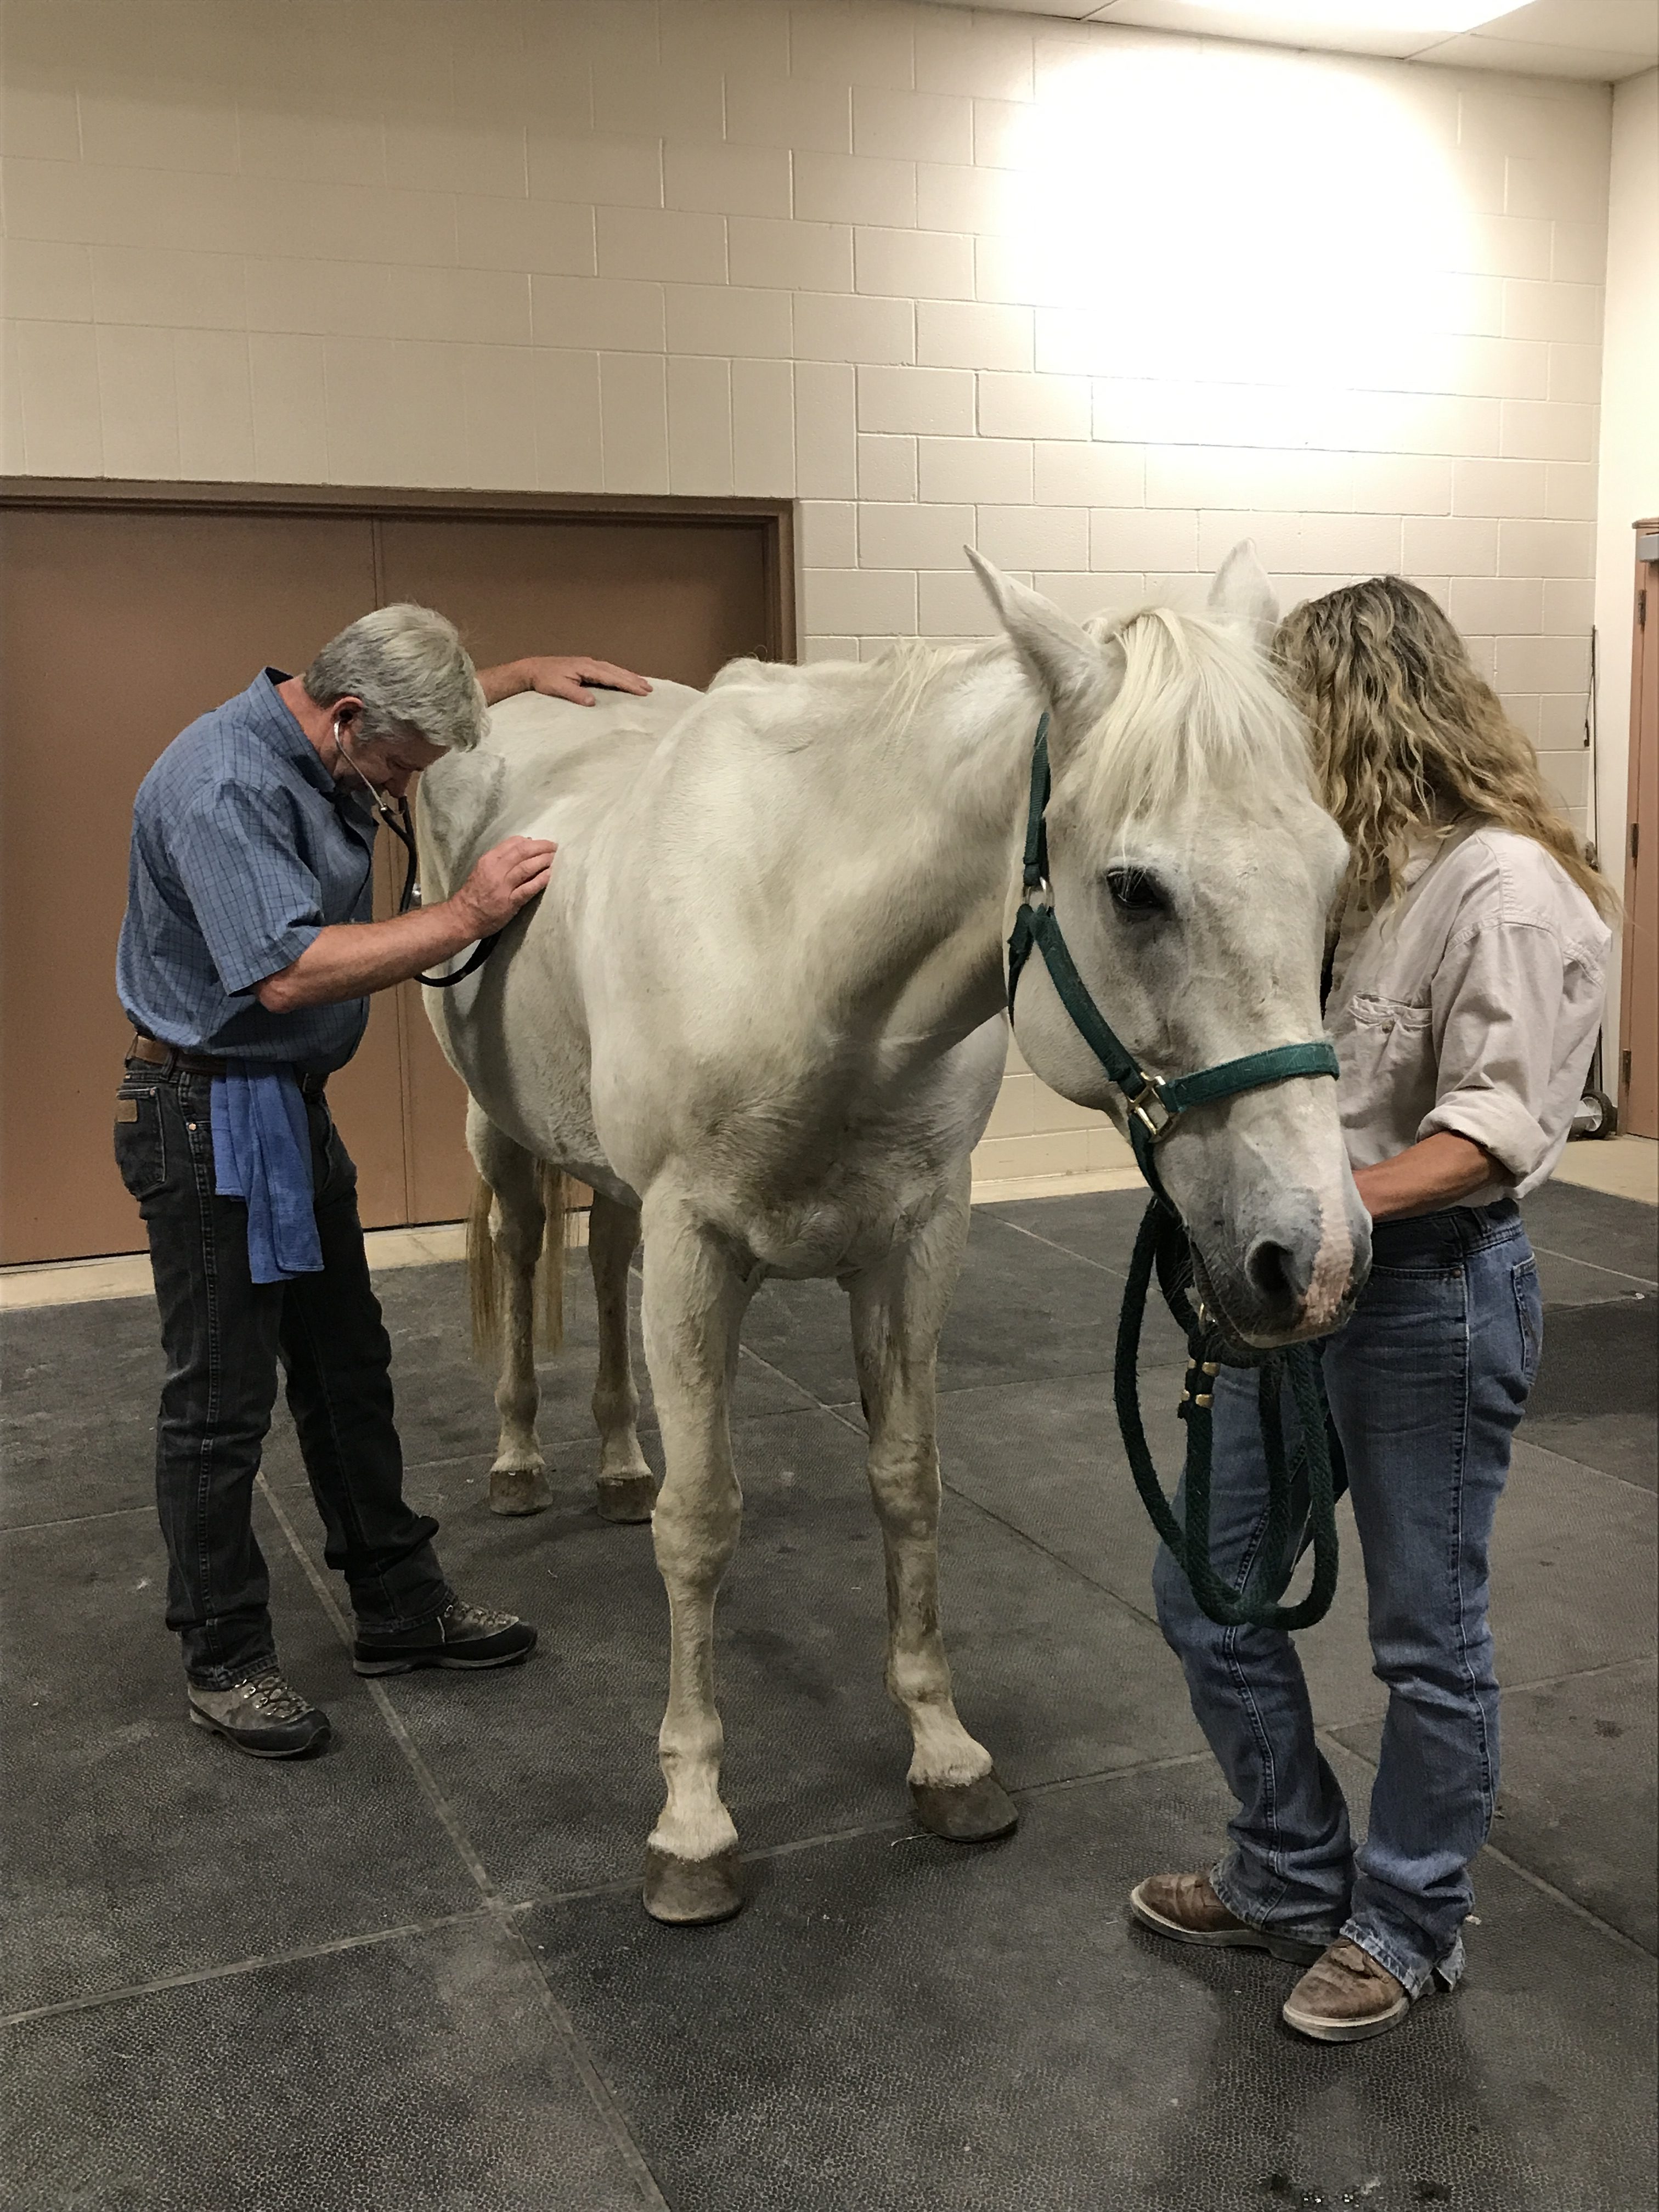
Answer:
[{"label": "white horse's front leg nearer the woman, including its hoof", "polygon": [[911,1728],[909,1794],[936,1836],[978,1843],[1018,1823],[991,1754],[962,1728],[938,1621],[936,1358],[969,1223],[969,1170],[922,1232],[847,1283],[869,1422],[869,1491],[887,1551],[887,1694]]}]

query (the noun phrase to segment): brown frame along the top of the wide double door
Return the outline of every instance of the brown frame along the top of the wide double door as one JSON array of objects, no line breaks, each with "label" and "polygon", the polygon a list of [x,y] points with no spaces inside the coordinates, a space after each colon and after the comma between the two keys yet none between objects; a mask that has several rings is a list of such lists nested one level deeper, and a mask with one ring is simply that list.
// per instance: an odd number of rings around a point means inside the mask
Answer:
[{"label": "brown frame along the top of the wide double door", "polygon": [[[150,513],[215,515],[394,515],[469,522],[752,522],[765,564],[765,653],[792,661],[799,650],[794,593],[794,500],[692,498],[635,491],[447,491],[394,484],[157,484],[119,476],[0,476],[4,509],[148,509]],[[374,533],[376,597],[380,595],[380,533]]]}]

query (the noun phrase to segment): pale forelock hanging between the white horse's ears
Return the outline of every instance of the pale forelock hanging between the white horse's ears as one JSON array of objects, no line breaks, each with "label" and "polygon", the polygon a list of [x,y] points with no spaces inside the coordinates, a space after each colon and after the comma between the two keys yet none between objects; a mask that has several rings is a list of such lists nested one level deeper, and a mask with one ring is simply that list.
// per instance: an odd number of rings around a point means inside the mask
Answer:
[{"label": "pale forelock hanging between the white horse's ears", "polygon": [[1124,653],[1117,697],[1073,765],[1091,814],[1148,821],[1203,792],[1312,790],[1307,732],[1243,628],[1168,606],[1084,628]]}]

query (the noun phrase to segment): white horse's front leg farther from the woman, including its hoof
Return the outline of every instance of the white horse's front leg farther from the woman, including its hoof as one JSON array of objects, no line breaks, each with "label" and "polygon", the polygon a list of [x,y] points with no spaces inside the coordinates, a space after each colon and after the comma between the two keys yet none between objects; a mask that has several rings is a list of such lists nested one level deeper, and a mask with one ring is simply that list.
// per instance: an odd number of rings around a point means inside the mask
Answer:
[{"label": "white horse's front leg farther from the woman, including its hoof", "polygon": [[666,1460],[650,1528],[670,1637],[657,1739],[668,1798],[646,1845],[646,1911],[657,1920],[726,1920],[743,1902],[737,1827],[719,1787],[714,1593],[743,1513],[728,1405],[748,1298],[679,1203],[646,1201],[646,1365]]}]

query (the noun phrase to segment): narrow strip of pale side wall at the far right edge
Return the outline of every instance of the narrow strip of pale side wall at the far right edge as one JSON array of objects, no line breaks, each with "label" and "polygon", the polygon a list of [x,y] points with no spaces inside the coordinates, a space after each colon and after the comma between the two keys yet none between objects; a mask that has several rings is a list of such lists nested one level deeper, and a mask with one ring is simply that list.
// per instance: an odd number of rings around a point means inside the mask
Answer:
[{"label": "narrow strip of pale side wall at the far right edge", "polygon": [[[1601,453],[1595,544],[1597,843],[1624,887],[1630,830],[1630,524],[1659,515],[1659,69],[1613,88],[1608,288],[1601,354]],[[1659,619],[1650,613],[1648,617]],[[1619,969],[1606,1020],[1615,1091]]]}]

